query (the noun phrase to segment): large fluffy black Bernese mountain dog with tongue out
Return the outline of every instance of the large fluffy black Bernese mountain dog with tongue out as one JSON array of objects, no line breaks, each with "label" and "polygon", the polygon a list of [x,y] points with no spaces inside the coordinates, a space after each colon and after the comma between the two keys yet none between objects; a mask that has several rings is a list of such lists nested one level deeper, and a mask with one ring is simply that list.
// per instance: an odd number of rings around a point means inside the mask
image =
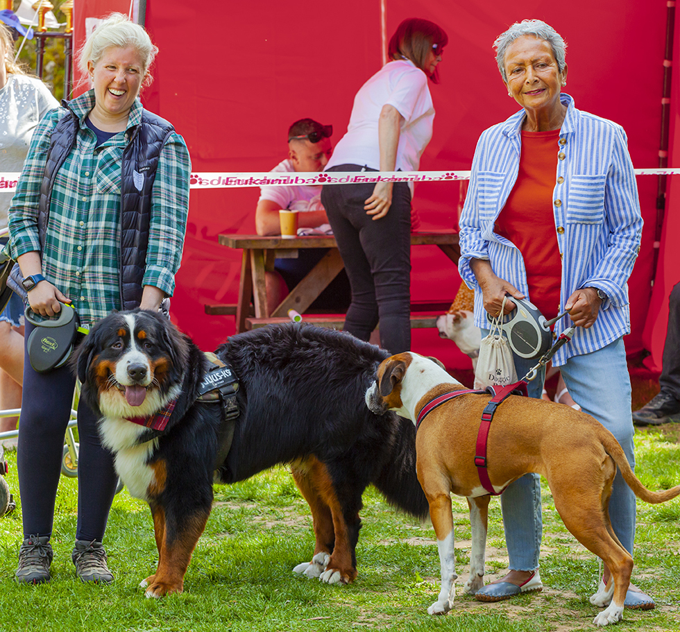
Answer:
[{"label": "large fluffy black Bernese mountain dog with tongue out", "polygon": [[291,323],[232,336],[215,355],[238,380],[228,432],[223,398],[198,399],[210,360],[160,314],[114,312],[74,355],[81,397],[100,417],[119,477],[151,507],[159,559],[141,584],[147,597],[182,592],[214,481],[289,463],[316,537],[312,561],[294,570],[328,583],[357,577],[368,484],[399,509],[427,515],[414,425],[364,402],[389,354],[349,334]]}]

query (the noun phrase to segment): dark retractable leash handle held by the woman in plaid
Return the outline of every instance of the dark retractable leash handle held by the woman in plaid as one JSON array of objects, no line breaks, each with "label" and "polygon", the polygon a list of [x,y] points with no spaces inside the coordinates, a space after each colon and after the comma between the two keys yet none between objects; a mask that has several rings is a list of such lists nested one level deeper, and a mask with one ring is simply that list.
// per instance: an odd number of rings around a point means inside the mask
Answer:
[{"label": "dark retractable leash handle held by the woman in plaid", "polygon": [[85,332],[79,327],[78,312],[71,305],[62,303],[56,318],[40,317],[39,320],[30,305],[26,305],[24,314],[26,320],[35,325],[26,341],[28,359],[33,370],[37,373],[49,373],[64,366],[74,350],[78,333]]}]

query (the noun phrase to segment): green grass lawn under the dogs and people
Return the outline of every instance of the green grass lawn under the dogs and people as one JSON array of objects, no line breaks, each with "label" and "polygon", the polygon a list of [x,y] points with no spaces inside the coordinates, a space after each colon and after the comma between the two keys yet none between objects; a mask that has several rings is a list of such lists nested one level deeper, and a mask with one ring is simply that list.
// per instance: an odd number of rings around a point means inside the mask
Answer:
[{"label": "green grass lawn under the dogs and people", "polygon": [[[680,483],[680,427],[636,435],[637,473],[652,489]],[[568,458],[568,455],[565,455]],[[8,482],[17,492],[15,454]],[[465,499],[454,499],[458,596],[454,610],[430,617],[439,590],[439,556],[430,524],[388,506],[372,488],[364,495],[352,586],[301,579],[291,569],[312,555],[307,504],[285,468],[242,484],[216,486],[215,506],[185,578],[185,592],[145,599],[139,581],[155,570],[151,514],[123,490],[115,499],[105,546],[116,575],[110,586],[76,579],[71,563],[77,482],[62,477],[52,544],[53,579],[42,586],[13,581],[22,540],[21,506],[0,520],[0,632],[19,631],[400,631],[542,632],[589,630],[597,608],[588,603],[598,560],[563,527],[550,490],[543,488],[542,593],[499,604],[461,595],[470,553]],[[489,515],[487,572],[507,564],[500,504]],[[650,506],[638,501],[638,586],[654,596],[651,612],[626,611],[621,630],[680,630],[680,499]]]}]

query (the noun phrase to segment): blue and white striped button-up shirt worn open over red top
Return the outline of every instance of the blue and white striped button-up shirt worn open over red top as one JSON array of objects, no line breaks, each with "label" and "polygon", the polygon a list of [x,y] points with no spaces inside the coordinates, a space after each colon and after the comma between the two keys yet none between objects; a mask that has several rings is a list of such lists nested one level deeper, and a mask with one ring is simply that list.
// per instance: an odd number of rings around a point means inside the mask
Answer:
[{"label": "blue and white striped button-up shirt worn open over red top", "polygon": [[[593,327],[577,327],[574,338],[553,358],[554,366],[603,348],[630,332],[628,277],[640,250],[643,219],[627,137],[620,125],[574,107],[561,94],[567,114],[560,129],[552,211],[562,259],[560,306],[584,287],[607,295]],[[482,133],[473,158],[470,185],[460,219],[459,271],[475,289],[475,324],[488,327],[482,291],[470,259],[488,259],[498,277],[531,300],[522,253],[494,232],[515,185],[520,164],[524,110]],[[562,307],[560,307],[560,311]],[[554,314],[546,314],[548,318]],[[556,331],[569,327],[568,316]]]}]

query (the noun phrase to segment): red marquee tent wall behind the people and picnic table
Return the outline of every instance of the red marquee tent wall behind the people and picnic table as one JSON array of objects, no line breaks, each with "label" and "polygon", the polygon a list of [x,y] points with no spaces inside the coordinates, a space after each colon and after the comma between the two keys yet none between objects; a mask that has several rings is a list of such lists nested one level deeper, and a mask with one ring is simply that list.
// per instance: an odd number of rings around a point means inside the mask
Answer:
[{"label": "red marquee tent wall behind the people and picnic table", "polygon": [[[130,0],[78,0],[76,42],[83,40],[87,17],[129,8]],[[667,11],[665,2],[635,0],[264,0],[255,5],[147,0],[146,6],[142,0],[140,20],[160,48],[154,82],[142,99],[185,137],[195,171],[268,171],[287,153],[291,121],[312,117],[332,123],[337,141],[346,130],[355,92],[382,64],[384,35],[389,37],[405,17],[425,17],[443,26],[449,44],[441,84],[432,86],[434,138],[420,167],[469,169],[482,130],[518,108],[501,83],[491,44],[509,24],[540,18],[568,42],[567,92],[577,107],[624,126],[636,168],[653,168],[661,137]],[[671,24],[671,33],[676,26]],[[680,166],[679,80],[676,73],[670,166]],[[652,351],[649,364],[658,369],[668,293],[680,280],[671,241],[680,235],[680,176],[668,178],[655,279],[658,178],[639,176],[638,187],[645,229],[630,282],[627,348]],[[173,320],[205,349],[234,332],[232,318],[203,312],[205,303],[234,302],[238,289],[239,253],[219,246],[217,235],[254,232],[258,195],[255,188],[192,191],[172,309]],[[455,226],[460,199],[459,182],[416,185],[414,207],[423,228]],[[436,247],[416,248],[413,264],[414,298],[454,296],[460,278]],[[416,330],[413,347],[448,366],[463,368],[469,362],[434,330]]]}]

